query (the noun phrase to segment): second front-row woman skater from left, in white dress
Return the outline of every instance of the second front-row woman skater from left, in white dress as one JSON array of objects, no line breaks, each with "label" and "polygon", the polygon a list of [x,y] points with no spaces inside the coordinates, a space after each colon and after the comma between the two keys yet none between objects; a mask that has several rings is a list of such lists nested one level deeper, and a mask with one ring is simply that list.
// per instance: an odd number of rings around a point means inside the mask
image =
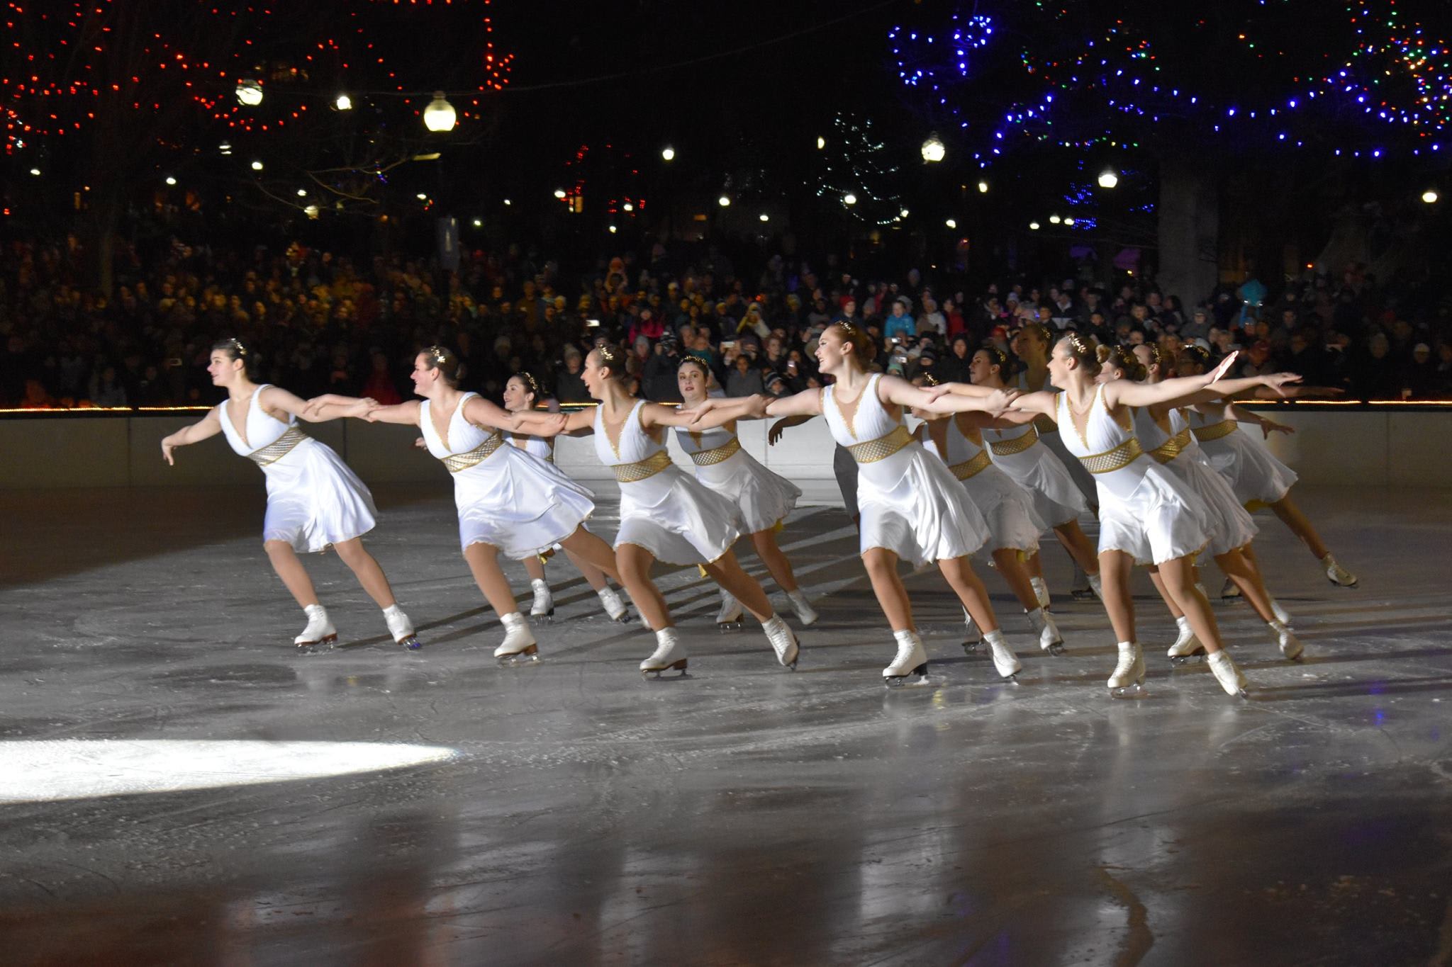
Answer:
[{"label": "second front-row woman skater from left, in white dress", "polygon": [[[521,561],[559,544],[607,574],[614,573],[610,545],[585,529],[594,494],[504,439],[507,431],[558,426],[559,415],[507,413],[478,393],[459,390],[459,357],[428,346],[414,357],[414,393],[424,397],[396,406],[350,412],[369,422],[404,423],[424,432],[428,452],[454,484],[459,544],[475,583],[504,625],[494,649],[501,664],[539,658],[534,632],[520,613],[499,555]],[[314,403],[357,407],[357,400],[319,396]]]}]

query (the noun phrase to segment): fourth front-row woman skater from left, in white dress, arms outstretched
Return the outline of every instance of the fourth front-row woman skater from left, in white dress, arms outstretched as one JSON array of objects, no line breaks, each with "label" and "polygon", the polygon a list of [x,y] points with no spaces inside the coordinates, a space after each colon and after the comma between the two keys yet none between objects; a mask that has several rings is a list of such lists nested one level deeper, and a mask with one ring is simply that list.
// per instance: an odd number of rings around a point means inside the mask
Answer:
[{"label": "fourth front-row woman skater from left, in white dress, arms outstretched", "polygon": [[862,361],[871,352],[867,333],[833,323],[822,333],[816,352],[822,373],[836,380],[832,386],[781,399],[707,400],[696,409],[701,416],[697,425],[767,416],[825,416],[833,439],[847,447],[858,464],[862,565],[897,644],[896,657],[883,668],[883,680],[902,684],[928,673],[928,652],[913,623],[908,590],[897,576],[899,560],[915,565],[938,564],[983,629],[999,676],[1012,678],[1021,667],[1018,657],[1003,639],[987,590],[968,561],[989,539],[987,522],[944,462],[929,457],[902,422],[903,407],[916,406],[932,413],[1000,410],[1011,394],[979,390],[982,396],[935,400],[900,377],[868,373]]}]

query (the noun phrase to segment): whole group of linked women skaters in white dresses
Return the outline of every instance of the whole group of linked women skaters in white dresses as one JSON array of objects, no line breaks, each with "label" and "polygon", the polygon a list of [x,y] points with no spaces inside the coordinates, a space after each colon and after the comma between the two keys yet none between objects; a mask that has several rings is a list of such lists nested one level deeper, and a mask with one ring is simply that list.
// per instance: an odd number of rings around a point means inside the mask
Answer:
[{"label": "whole group of linked women skaters in white dresses", "polygon": [[[974,573],[971,555],[986,549],[1031,622],[1040,647],[1063,651],[1063,635],[1048,610],[1048,590],[1038,561],[1038,536],[1053,529],[1104,600],[1118,639],[1111,693],[1138,690],[1144,658],[1135,636],[1130,573],[1150,568],[1154,586],[1179,625],[1170,658],[1205,655],[1228,694],[1247,683],[1224,641],[1198,581],[1201,552],[1215,560],[1233,587],[1266,622],[1282,655],[1298,660],[1302,647],[1291,616],[1266,592],[1252,548],[1256,525],[1249,509],[1269,506],[1307,544],[1327,577],[1340,586],[1356,578],[1342,568],[1291,500],[1295,474],[1252,433],[1279,429],[1236,407],[1231,399],[1262,391],[1291,394],[1291,374],[1224,378],[1230,357],[1207,370],[1188,352],[1172,362],[1154,346],[1095,346],[1077,333],[1050,342],[1040,326],[1019,341],[1025,368],[1011,383],[1006,358],[995,348],[973,357],[971,383],[918,387],[871,373],[871,344],[851,325],[822,335],[816,357],[832,377],[823,390],[787,397],[723,399],[709,394],[710,373],[693,358],[678,371],[684,404],[635,399],[626,389],[624,352],[600,346],[585,360],[582,378],[600,402],[590,410],[536,410],[537,381],[510,378],[505,406],[457,387],[459,361],[430,346],[414,360],[414,390],[421,397],[396,406],[334,394],[302,400],[247,375],[247,348],[218,342],[208,371],[228,399],[200,422],[161,441],[166,460],[176,447],[222,432],[231,447],[256,461],[267,480],[263,541],[267,555],[308,616],[295,639],[299,648],[337,641],[337,631],[317,599],[298,551],[333,545],[383,609],[393,639],[417,648],[408,616],[398,607],[382,568],[362,547],[376,510],[363,483],[328,447],[303,435],[299,419],[359,418],[417,425],[421,445],[454,481],[465,560],[501,618],[501,663],[539,657],[533,629],[520,613],[499,567],[499,555],[526,561],[534,590],[531,615],[553,612],[543,577],[543,555],[562,549],[595,589],[614,621],[629,616],[610,587],[623,586],[655,634],[656,648],[642,673],[687,668],[687,651],[661,592],[650,580],[655,561],[698,565],[723,594],[719,623],[739,621],[742,609],[761,623],[777,661],[794,668],[799,642],[761,584],[733,554],[739,538],[751,542],[768,573],[787,593],[802,625],[817,619],[777,545],[775,532],[796,506],[800,490],[742,449],[736,423],[775,418],[772,439],[788,426],[822,416],[849,462],[839,474],[844,497],[858,522],[862,564],[896,639],[896,655],[883,668],[887,684],[928,674],[912,603],[899,577],[899,561],[937,564],[963,605],[970,628],[964,648],[986,647],[999,676],[1012,678],[1021,664],[1008,645]],[[1060,389],[1054,389],[1060,387]],[[910,432],[903,415],[923,420]],[[677,433],[696,473],[677,467],[666,452],[666,429]],[[620,529],[614,547],[585,528],[592,494],[552,462],[552,438],[594,435],[595,454],[620,483]],[[1064,460],[1067,455],[1067,461]],[[841,467],[842,461],[839,461]],[[1082,473],[1079,480],[1072,467]],[[1086,487],[1085,484],[1089,484]],[[1095,551],[1079,518],[1095,510]]]}]

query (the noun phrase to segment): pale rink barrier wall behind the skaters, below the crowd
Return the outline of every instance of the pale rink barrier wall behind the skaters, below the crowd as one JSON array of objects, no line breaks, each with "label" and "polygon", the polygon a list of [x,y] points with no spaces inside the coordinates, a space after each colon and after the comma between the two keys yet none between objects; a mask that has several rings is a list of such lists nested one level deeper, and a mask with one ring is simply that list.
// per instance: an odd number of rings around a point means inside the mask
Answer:
[{"label": "pale rink barrier wall behind the skaters, below the crowd", "polygon": [[[197,419],[196,412],[0,419],[0,490],[254,483],[257,468],[221,435],[177,449],[176,467],[163,461],[161,438]],[[1270,449],[1317,486],[1452,487],[1452,407],[1301,406],[1276,409],[1273,419],[1297,432],[1272,435]],[[767,447],[767,426],[765,420],[739,425],[746,452],[790,480],[832,478],[832,439],[822,420],[788,429],[775,447]],[[449,480],[443,464],[412,445],[414,426],[334,420],[302,428],[338,451],[364,481]],[[671,457],[690,468],[690,458],[669,436]],[[562,436],[555,462],[581,481],[614,480],[588,436]]]}]

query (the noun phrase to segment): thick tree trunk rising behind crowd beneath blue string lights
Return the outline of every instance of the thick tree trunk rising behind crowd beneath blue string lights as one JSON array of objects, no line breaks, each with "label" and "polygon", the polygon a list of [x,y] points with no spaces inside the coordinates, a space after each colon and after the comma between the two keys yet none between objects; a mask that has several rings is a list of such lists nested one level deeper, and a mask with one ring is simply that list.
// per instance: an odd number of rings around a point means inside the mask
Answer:
[{"label": "thick tree trunk rising behind crowd beneath blue string lights", "polygon": [[1188,158],[1160,162],[1159,283],[1192,306],[1220,281],[1220,193]]}]

